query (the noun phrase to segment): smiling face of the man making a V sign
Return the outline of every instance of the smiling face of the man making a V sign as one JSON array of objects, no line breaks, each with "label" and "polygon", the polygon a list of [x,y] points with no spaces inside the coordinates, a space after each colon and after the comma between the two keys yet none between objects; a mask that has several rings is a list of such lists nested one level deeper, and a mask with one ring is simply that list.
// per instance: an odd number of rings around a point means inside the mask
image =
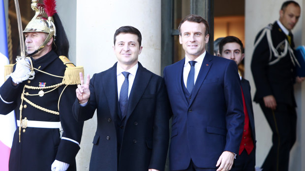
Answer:
[{"label": "smiling face of the man making a V sign", "polygon": [[118,63],[127,69],[138,62],[138,55],[141,54],[142,46],[139,46],[138,36],[130,33],[120,33],[116,37],[113,50],[118,58]]}]

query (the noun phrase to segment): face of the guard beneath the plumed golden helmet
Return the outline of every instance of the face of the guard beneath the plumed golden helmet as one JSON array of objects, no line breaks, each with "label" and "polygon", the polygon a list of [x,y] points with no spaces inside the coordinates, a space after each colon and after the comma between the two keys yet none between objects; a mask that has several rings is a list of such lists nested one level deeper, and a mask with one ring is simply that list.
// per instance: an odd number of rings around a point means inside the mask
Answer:
[{"label": "face of the guard beneath the plumed golden helmet", "polygon": [[[46,40],[48,34],[43,33],[43,32],[26,32],[24,33],[25,38],[26,38],[26,48],[27,52],[33,53],[35,50],[37,50],[42,43]],[[40,56],[40,54],[44,53],[44,49],[39,50],[36,54],[33,55],[35,56]]]}]

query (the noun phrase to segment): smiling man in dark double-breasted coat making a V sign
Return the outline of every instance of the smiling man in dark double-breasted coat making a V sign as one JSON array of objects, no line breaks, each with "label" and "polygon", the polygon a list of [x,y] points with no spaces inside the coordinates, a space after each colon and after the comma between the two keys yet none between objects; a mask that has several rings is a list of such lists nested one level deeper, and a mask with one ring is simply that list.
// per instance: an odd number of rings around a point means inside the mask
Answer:
[{"label": "smiling man in dark double-breasted coat making a V sign", "polygon": [[[91,119],[97,109],[90,171],[163,171],[169,141],[169,102],[163,79],[138,62],[141,33],[122,26],[114,34],[118,62],[81,85],[73,114]],[[80,104],[81,103],[81,104]]]}]

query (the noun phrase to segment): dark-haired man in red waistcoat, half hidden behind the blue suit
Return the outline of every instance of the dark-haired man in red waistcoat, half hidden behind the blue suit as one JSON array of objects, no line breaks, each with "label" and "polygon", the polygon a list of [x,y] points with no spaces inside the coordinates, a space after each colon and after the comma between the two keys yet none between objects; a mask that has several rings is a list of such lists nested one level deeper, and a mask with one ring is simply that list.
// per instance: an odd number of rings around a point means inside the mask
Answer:
[{"label": "dark-haired man in red waistcoat, half hidden behind the blue suit", "polygon": [[[242,41],[234,36],[227,36],[219,43],[221,57],[234,60],[239,64],[244,59],[244,46]],[[239,149],[239,156],[234,160],[231,171],[254,171],[255,170],[255,129],[252,107],[252,98],[249,81],[241,78],[241,88],[244,103],[244,132]]]}]

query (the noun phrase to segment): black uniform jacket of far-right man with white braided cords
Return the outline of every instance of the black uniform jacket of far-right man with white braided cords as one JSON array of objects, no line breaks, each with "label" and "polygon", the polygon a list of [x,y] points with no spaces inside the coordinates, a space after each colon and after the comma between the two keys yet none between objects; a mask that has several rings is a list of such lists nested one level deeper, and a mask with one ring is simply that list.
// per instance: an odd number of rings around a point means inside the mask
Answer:
[{"label": "black uniform jacket of far-right man with white braided cords", "polygon": [[[256,38],[258,40],[263,30],[261,30]],[[278,24],[274,22],[271,28],[271,38],[274,48],[281,53],[284,51],[286,34],[280,29]],[[291,40],[291,48],[294,48],[293,39]],[[288,44],[289,46],[289,44]],[[270,54],[272,54],[270,58]],[[261,102],[263,97],[273,95],[277,103],[285,103],[296,106],[293,84],[295,82],[295,66],[291,61],[289,52],[280,58],[278,62],[269,65],[270,61],[277,60],[274,53],[271,52],[266,34],[258,43],[253,51],[251,70],[256,86],[254,101]]]}]

